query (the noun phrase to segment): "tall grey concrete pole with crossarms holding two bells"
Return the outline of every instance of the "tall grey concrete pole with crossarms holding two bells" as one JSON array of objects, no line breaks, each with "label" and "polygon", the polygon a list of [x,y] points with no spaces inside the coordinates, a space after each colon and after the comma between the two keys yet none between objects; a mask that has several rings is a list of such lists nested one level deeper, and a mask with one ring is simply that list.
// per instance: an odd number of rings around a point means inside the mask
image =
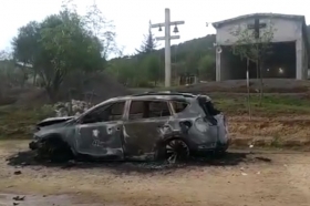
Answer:
[{"label": "tall grey concrete pole with crossarms holding two bells", "polygon": [[179,39],[179,35],[170,35],[170,25],[175,25],[174,32],[177,33],[177,25],[184,24],[184,21],[170,21],[170,10],[165,9],[165,23],[152,24],[152,28],[165,28],[165,37],[156,38],[156,40],[165,40],[165,87],[169,87],[172,84],[172,51],[170,40]]}]

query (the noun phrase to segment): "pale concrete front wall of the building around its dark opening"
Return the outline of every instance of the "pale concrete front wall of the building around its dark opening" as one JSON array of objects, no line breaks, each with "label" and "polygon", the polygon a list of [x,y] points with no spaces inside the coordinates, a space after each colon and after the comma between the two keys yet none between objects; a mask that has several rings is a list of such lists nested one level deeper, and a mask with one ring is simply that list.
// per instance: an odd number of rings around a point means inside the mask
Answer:
[{"label": "pale concrete front wall of the building around its dark opening", "polygon": [[[219,45],[230,45],[237,41],[237,37],[231,34],[236,31],[237,27],[247,27],[248,23],[254,23],[255,18],[248,18],[240,21],[235,21],[223,25],[217,29],[216,42]],[[260,22],[270,23],[270,18],[260,18]],[[308,54],[306,48],[306,41],[302,33],[302,22],[290,19],[272,18],[271,19],[273,31],[272,42],[296,42],[296,78],[298,80],[307,79],[308,74]],[[260,29],[264,32],[264,29]],[[218,54],[217,56],[217,81],[229,80],[229,65],[225,62],[225,54]]]}]

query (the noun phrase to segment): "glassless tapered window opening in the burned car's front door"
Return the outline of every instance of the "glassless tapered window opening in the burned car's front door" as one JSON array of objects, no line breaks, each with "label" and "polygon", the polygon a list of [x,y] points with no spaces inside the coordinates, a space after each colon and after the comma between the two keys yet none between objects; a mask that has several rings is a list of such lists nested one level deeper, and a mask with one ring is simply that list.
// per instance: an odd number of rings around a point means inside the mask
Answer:
[{"label": "glassless tapered window opening in the burned car's front door", "polygon": [[110,122],[122,120],[125,102],[116,102],[110,105],[101,106],[86,114],[82,123],[90,124],[96,122]]}]

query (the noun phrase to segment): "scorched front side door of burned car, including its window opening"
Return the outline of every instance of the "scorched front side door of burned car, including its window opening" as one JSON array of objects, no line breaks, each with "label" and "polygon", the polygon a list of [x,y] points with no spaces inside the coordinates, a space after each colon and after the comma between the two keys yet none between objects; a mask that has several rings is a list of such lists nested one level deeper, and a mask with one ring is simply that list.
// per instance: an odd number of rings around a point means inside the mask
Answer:
[{"label": "scorched front side door of burned car, including its window opening", "polygon": [[122,126],[125,102],[99,106],[76,125],[78,153],[123,158]]}]

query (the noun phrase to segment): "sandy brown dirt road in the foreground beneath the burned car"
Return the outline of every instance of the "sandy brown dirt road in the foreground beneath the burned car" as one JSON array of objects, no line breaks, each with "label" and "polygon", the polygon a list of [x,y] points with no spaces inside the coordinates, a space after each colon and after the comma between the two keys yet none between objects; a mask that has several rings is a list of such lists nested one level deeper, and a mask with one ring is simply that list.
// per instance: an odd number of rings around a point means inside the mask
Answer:
[{"label": "sandy brown dirt road in the foreground beneath the burned car", "polygon": [[[239,151],[220,159],[177,166],[145,163],[43,166],[35,165],[29,153],[22,152],[24,143],[0,145],[0,205],[3,206],[13,203],[20,206],[310,205],[310,153]],[[18,151],[19,155],[8,158]],[[24,200],[12,199],[17,195],[25,195]]]}]

